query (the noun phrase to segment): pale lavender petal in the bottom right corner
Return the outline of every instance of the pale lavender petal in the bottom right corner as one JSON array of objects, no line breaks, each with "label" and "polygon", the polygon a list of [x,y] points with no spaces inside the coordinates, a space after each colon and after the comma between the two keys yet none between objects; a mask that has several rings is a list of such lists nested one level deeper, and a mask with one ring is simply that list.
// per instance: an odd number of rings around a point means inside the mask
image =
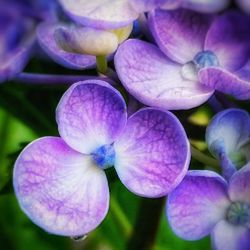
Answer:
[{"label": "pale lavender petal in the bottom right corner", "polygon": [[211,235],[212,245],[217,250],[249,250],[250,231],[226,221],[219,222]]}]

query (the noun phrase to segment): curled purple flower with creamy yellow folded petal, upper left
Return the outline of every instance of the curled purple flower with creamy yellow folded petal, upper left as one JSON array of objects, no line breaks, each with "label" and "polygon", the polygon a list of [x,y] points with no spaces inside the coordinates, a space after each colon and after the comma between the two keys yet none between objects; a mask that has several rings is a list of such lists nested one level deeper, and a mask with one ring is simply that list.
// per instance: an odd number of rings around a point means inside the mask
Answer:
[{"label": "curled purple flower with creamy yellow folded petal, upper left", "polygon": [[116,30],[100,30],[76,24],[44,22],[37,37],[44,51],[57,63],[72,69],[93,68],[96,56],[109,56],[128,38],[132,25]]}]

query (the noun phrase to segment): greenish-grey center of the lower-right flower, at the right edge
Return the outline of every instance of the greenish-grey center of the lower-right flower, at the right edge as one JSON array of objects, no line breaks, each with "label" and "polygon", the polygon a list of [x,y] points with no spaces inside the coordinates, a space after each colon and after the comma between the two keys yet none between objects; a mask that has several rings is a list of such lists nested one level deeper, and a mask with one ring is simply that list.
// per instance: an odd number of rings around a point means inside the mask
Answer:
[{"label": "greenish-grey center of the lower-right flower, at the right edge", "polygon": [[243,202],[233,202],[227,211],[227,221],[233,225],[250,228],[250,205]]}]

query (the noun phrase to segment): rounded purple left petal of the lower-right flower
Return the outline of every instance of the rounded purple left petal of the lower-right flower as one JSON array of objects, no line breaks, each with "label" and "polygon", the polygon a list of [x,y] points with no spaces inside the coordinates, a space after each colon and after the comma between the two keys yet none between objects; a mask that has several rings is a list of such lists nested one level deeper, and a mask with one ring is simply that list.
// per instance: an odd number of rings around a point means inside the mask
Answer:
[{"label": "rounded purple left petal of the lower-right flower", "polygon": [[167,216],[173,231],[183,239],[198,240],[211,233],[229,205],[227,183],[217,173],[189,171],[168,196]]}]

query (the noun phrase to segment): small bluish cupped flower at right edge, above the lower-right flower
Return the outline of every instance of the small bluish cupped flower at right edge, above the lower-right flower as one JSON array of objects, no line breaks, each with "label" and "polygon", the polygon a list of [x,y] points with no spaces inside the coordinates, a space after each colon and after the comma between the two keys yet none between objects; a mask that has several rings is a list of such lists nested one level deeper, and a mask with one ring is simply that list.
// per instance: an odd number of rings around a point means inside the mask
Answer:
[{"label": "small bluish cupped flower at right edge, above the lower-right flower", "polygon": [[250,117],[240,109],[218,113],[206,131],[210,151],[220,160],[223,176],[230,178],[250,161]]}]

